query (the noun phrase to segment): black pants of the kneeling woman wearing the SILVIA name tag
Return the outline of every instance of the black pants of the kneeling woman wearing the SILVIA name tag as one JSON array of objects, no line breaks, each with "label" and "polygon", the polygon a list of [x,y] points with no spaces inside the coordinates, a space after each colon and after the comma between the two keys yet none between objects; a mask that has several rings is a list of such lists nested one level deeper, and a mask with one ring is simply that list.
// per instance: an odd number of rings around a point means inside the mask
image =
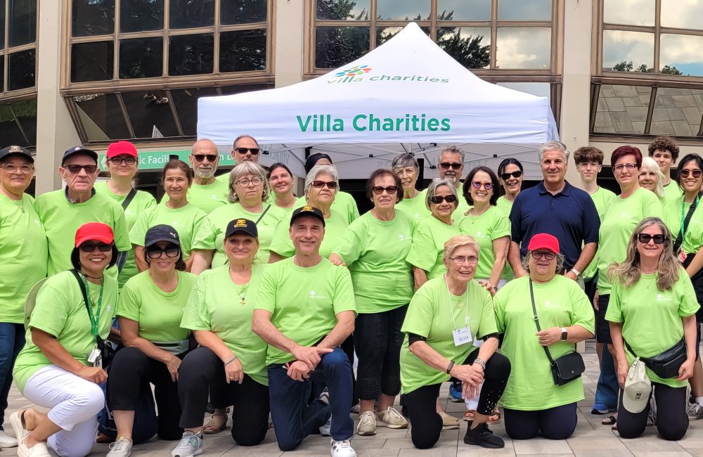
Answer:
[{"label": "black pants of the kneeling woman wearing the SILVIA name tag", "polygon": [[[478,354],[478,351],[472,352],[464,363],[473,363]],[[479,413],[488,416],[493,412],[494,406],[503,395],[509,376],[508,357],[503,354],[493,354],[486,362],[484,384],[477,408]],[[439,439],[442,427],[441,416],[437,414],[439,387],[441,384],[425,385],[405,394],[405,406],[408,408],[408,416],[413,425],[410,429],[411,438],[418,449],[430,449]]]}]

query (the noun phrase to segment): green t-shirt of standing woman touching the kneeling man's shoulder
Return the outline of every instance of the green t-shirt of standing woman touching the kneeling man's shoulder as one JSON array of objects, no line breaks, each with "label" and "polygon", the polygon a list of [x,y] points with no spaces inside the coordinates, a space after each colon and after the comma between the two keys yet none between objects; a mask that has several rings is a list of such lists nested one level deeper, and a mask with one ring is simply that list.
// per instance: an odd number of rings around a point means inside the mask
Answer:
[{"label": "green t-shirt of standing woman touching the kneeling man's shoulder", "polygon": [[337,242],[333,252],[352,272],[359,313],[380,313],[410,302],[413,267],[405,258],[414,227],[415,219],[406,212],[396,211],[391,221],[380,221],[369,211]]}]

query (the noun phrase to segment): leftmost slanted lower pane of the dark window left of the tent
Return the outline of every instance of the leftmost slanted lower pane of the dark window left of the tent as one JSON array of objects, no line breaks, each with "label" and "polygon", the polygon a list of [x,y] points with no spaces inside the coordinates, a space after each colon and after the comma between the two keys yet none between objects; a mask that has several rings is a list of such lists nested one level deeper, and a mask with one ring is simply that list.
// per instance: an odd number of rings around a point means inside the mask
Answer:
[{"label": "leftmost slanted lower pane of the dark window left of the tent", "polygon": [[115,94],[74,96],[89,141],[129,139],[120,103]]}]

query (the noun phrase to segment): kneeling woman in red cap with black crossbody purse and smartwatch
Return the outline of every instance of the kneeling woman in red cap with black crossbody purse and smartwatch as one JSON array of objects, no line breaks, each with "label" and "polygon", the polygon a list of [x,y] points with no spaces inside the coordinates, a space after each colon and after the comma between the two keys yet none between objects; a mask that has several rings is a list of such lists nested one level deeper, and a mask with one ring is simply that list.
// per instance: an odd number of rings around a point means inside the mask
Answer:
[{"label": "kneeling woman in red cap with black crossbody purse and smartwatch", "polygon": [[576,429],[576,403],[584,398],[583,370],[555,375],[552,360],[579,365],[574,349],[593,336],[593,308],[576,281],[557,274],[564,261],[557,238],[538,233],[527,251],[523,266],[529,275],[494,297],[498,332],[505,335],[501,352],[512,364],[501,397],[505,432],[512,439],[566,439]]}]

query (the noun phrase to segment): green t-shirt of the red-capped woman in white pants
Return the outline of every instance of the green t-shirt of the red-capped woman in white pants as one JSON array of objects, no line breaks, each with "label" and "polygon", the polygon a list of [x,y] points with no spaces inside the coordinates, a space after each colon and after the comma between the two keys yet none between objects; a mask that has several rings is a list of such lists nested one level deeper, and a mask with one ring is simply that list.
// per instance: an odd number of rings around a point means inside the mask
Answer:
[{"label": "green t-shirt of the red-capped woman in white pants", "polygon": [[[105,275],[103,301],[98,318],[98,335],[106,339],[110,333],[112,317],[117,306],[117,281]],[[88,283],[88,292],[93,302],[93,316],[98,314],[100,285]],[[25,339],[27,343],[15,361],[13,378],[22,392],[27,380],[39,369],[52,363],[39,347],[32,342],[31,328],[43,330],[67,350],[74,359],[87,365],[88,354],[96,348],[91,323],[78,281],[70,271],[61,271],[46,280],[37,294],[36,304],[30,317]]]}]

